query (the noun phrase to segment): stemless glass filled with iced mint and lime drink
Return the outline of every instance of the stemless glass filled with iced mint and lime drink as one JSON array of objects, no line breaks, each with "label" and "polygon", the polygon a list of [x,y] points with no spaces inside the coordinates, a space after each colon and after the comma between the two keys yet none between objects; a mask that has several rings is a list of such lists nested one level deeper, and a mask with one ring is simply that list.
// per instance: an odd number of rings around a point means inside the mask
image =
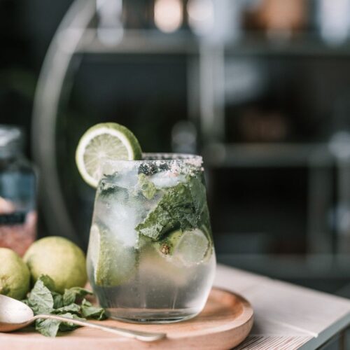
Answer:
[{"label": "stemless glass filled with iced mint and lime drink", "polygon": [[202,158],[106,160],[87,272],[112,318],[169,323],[204,307],[216,266]]}]

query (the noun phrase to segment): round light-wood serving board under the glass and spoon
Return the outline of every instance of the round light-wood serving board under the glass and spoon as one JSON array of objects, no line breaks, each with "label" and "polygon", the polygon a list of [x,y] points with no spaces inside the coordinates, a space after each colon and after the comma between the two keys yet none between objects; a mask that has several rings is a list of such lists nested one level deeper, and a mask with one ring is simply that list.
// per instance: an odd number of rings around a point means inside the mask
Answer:
[{"label": "round light-wood serving board under the glass and spoon", "polygon": [[140,342],[102,330],[78,328],[56,338],[30,330],[0,333],[1,350],[139,350],[139,349],[231,349],[240,344],[253,325],[253,309],[243,297],[213,288],[204,310],[195,318],[165,325],[143,325],[114,320],[105,325],[150,332],[166,332],[158,342]]}]

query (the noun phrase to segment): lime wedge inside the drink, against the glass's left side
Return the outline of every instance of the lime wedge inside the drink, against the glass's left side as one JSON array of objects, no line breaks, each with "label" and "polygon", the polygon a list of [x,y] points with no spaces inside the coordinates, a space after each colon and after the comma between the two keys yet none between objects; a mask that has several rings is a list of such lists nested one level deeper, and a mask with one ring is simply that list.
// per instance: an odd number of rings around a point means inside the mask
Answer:
[{"label": "lime wedge inside the drink, against the glass's left side", "polygon": [[88,255],[97,286],[119,286],[129,281],[136,271],[134,248],[123,246],[107,229],[96,224],[90,231]]}]

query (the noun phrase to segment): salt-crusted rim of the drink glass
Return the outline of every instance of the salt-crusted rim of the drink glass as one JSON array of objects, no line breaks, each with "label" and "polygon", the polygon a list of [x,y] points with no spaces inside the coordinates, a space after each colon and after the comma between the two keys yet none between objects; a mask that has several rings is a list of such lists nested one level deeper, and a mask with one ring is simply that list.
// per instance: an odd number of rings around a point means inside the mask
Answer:
[{"label": "salt-crusted rim of the drink glass", "polygon": [[[142,153],[142,160],[104,160],[102,173],[113,174],[117,171],[129,171],[138,169],[141,165],[153,169],[154,173],[167,170],[172,174],[193,175],[198,171],[203,172],[203,158],[200,155],[186,153]],[[162,169],[167,167],[167,169]]]}]

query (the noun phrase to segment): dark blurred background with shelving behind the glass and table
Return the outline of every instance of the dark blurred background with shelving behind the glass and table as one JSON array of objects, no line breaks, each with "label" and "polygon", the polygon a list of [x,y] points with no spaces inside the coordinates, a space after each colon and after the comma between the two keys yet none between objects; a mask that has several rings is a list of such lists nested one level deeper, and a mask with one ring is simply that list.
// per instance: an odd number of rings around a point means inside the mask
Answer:
[{"label": "dark blurred background with shelving behind the glass and table", "polygon": [[218,261],[350,297],[350,0],[0,0],[0,123],[39,237],[87,246],[74,152],[116,121],[204,156]]}]

